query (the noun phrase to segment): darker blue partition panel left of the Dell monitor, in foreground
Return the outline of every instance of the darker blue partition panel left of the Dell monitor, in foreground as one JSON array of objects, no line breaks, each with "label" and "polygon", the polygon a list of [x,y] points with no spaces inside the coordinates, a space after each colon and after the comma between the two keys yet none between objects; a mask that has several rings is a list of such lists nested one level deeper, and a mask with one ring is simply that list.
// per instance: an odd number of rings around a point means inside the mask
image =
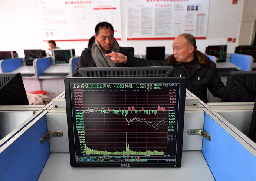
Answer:
[{"label": "darker blue partition panel left of the Dell monitor, in foreground", "polygon": [[0,180],[37,180],[50,155],[49,140],[40,138],[47,133],[46,115],[36,121],[0,154]]}]

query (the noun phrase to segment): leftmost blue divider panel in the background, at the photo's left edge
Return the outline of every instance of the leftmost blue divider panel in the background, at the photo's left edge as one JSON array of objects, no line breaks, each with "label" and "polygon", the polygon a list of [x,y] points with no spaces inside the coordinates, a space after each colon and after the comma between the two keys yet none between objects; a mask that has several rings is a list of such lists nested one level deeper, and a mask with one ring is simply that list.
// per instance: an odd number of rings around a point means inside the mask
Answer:
[{"label": "leftmost blue divider panel in the background, at the photo's left edge", "polygon": [[0,70],[3,73],[12,72],[20,66],[22,66],[22,58],[10,58],[0,61]]}]

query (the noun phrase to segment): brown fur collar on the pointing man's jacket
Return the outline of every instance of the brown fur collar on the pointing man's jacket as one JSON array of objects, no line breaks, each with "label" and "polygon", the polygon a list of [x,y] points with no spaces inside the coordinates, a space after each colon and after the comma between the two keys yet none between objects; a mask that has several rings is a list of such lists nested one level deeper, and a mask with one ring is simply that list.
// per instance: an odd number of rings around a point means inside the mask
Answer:
[{"label": "brown fur collar on the pointing man's jacket", "polygon": [[[211,66],[213,66],[213,62],[210,60],[210,58],[208,58],[205,54],[203,54],[202,52],[196,50],[195,51],[199,64],[206,66],[208,68],[211,68]],[[168,66],[179,66],[181,65],[180,62],[177,62],[174,58],[174,55],[171,55],[170,57],[168,57],[167,59],[168,62]]]}]

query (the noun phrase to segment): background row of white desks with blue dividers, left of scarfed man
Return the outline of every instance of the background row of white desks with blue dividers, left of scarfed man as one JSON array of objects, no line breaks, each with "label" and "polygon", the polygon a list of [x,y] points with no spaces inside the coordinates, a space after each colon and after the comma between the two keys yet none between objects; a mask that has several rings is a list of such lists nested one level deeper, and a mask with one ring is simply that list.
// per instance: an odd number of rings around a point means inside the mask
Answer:
[{"label": "background row of white desks with blue dividers, left of scarfed man", "polygon": [[64,78],[72,77],[79,57],[70,58],[68,64],[53,64],[51,57],[38,58],[27,66],[23,58],[0,60],[0,72],[20,72],[26,92],[46,90],[51,98],[64,91]]}]

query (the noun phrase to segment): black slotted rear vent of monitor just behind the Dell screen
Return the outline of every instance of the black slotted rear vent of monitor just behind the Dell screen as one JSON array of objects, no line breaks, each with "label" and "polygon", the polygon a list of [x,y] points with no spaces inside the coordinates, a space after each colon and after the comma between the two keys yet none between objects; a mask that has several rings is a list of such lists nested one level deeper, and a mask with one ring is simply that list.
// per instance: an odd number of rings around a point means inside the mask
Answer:
[{"label": "black slotted rear vent of monitor just behind the Dell screen", "polygon": [[166,77],[168,70],[84,71],[84,77]]}]

